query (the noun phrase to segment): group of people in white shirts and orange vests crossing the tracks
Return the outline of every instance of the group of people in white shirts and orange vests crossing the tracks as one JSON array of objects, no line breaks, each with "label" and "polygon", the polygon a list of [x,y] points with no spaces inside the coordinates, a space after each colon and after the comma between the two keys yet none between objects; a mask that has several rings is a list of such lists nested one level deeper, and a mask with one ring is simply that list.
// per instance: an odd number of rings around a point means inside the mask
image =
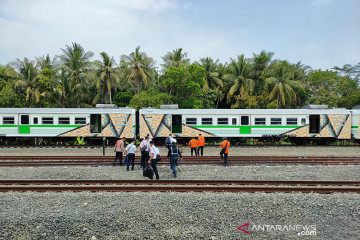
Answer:
[{"label": "group of people in white shirts and orange vests crossing the tracks", "polygon": [[[113,166],[115,166],[116,160],[119,159],[120,166],[123,165],[123,157],[126,156],[126,170],[134,170],[135,165],[135,152],[137,151],[137,147],[135,145],[135,139],[131,139],[130,143],[125,147],[126,138],[119,139],[115,144],[115,158],[113,162]],[[182,160],[182,154],[179,147],[176,145],[176,139],[172,137],[170,134],[169,137],[165,140],[165,145],[168,149],[167,158],[170,160],[170,168],[172,170],[173,177],[176,178],[178,167],[178,160]],[[193,156],[193,152],[195,152],[196,156],[201,156],[204,154],[204,146],[205,146],[205,138],[199,134],[198,139],[192,138],[189,141],[188,146],[191,148],[191,156]],[[224,166],[227,166],[227,157],[229,154],[230,142],[227,138],[224,138],[224,141],[220,144],[220,155],[221,160],[224,163]],[[140,165],[144,169],[147,165],[150,165],[154,171],[156,179],[160,179],[159,171],[157,168],[157,162],[161,160],[160,151],[155,146],[154,141],[150,138],[150,134],[148,134],[140,143],[139,150],[141,152],[141,161]]]}]

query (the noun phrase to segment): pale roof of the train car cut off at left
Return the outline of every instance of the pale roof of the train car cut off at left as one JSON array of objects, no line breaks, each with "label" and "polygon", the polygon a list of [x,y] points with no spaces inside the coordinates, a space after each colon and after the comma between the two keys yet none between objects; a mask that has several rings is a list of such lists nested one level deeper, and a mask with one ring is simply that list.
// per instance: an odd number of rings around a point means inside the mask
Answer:
[{"label": "pale roof of the train car cut off at left", "polygon": [[86,114],[86,113],[125,113],[131,114],[134,108],[0,108],[0,114]]}]

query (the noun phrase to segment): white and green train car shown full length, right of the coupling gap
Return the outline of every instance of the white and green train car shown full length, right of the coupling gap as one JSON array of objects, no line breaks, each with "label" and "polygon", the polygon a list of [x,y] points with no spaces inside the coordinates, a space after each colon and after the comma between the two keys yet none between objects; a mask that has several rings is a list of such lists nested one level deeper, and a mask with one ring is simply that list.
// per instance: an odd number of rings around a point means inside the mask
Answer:
[{"label": "white and green train car shown full length, right of the coupling gap", "polygon": [[[162,109],[146,108],[139,113],[140,138],[205,137],[274,138],[289,137],[303,143],[319,139],[328,143],[335,139],[358,138],[347,109]],[[309,109],[310,108],[310,109]],[[355,112],[355,111],[354,111]],[[353,121],[355,121],[355,118]],[[356,123],[357,125],[357,123]],[[358,131],[357,131],[358,132]]]}]

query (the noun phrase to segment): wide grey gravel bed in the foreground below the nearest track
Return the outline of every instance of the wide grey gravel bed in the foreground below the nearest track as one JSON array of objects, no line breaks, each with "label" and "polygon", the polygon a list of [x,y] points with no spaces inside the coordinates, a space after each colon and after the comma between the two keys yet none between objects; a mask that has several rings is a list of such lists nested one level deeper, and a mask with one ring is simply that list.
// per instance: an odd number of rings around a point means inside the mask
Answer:
[{"label": "wide grey gravel bed in the foreground below the nearest track", "polygon": [[[0,200],[0,239],[358,239],[360,234],[359,194],[26,192],[2,193]],[[248,222],[243,229],[249,234],[238,230]],[[289,225],[299,228],[284,230]],[[310,226],[316,235],[298,235]]]}]

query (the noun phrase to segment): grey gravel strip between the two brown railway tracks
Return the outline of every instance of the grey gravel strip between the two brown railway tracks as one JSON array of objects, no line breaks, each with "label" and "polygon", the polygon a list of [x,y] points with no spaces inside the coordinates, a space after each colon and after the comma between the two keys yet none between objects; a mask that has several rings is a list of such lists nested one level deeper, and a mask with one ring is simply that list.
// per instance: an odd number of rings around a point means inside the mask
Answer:
[{"label": "grey gravel strip between the two brown railway tracks", "polygon": [[[360,165],[190,166],[179,165],[177,179],[360,181]],[[172,179],[169,165],[159,165],[160,179]],[[145,179],[116,165],[101,167],[1,167],[0,179]]]}]

